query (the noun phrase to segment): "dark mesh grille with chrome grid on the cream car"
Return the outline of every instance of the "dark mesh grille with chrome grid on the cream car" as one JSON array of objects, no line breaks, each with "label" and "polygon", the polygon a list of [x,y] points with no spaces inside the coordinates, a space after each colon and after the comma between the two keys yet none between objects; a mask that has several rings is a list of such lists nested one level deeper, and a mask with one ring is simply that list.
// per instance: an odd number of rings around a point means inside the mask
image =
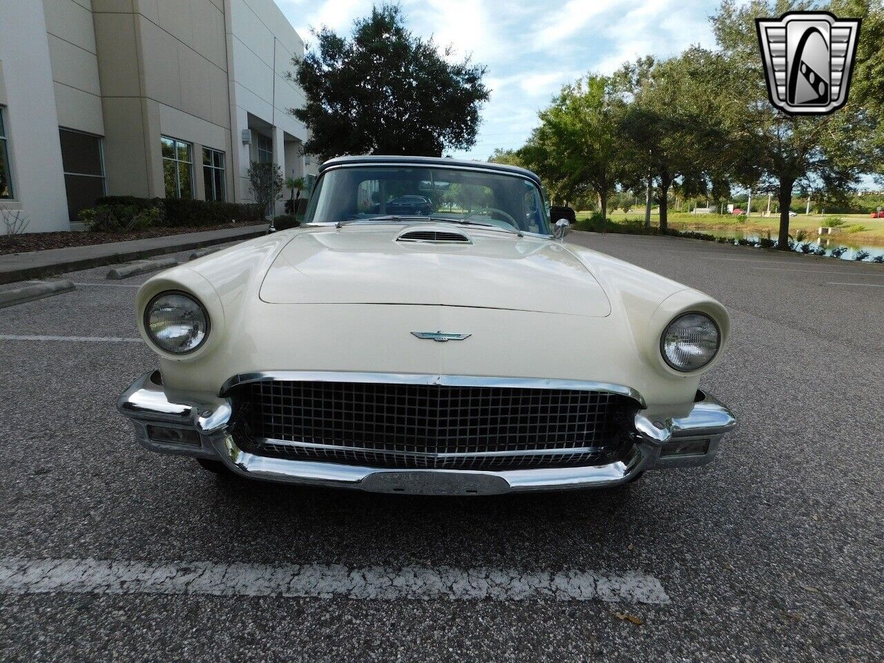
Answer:
[{"label": "dark mesh grille with chrome grid on the cream car", "polygon": [[609,392],[299,381],[240,385],[234,400],[246,451],[396,469],[613,462],[635,407]]}]

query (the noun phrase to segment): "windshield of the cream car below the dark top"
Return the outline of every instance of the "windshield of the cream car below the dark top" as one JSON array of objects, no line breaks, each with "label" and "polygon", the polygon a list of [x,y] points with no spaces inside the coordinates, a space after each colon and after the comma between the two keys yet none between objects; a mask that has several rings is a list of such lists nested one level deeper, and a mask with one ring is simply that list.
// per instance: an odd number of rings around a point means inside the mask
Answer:
[{"label": "windshield of the cream car below the dark top", "polygon": [[426,217],[549,234],[534,182],[492,171],[421,166],[356,166],[326,171],[310,196],[305,223]]}]

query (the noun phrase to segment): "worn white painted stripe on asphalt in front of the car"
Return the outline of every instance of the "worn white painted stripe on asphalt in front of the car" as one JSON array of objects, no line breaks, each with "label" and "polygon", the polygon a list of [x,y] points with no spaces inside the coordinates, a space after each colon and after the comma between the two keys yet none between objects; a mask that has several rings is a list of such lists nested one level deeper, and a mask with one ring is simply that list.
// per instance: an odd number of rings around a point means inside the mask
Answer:
[{"label": "worn white painted stripe on asphalt in front of the car", "polygon": [[500,568],[0,560],[0,593],[186,594],[391,600],[547,599],[667,604],[659,581],[635,571],[517,571]]}]

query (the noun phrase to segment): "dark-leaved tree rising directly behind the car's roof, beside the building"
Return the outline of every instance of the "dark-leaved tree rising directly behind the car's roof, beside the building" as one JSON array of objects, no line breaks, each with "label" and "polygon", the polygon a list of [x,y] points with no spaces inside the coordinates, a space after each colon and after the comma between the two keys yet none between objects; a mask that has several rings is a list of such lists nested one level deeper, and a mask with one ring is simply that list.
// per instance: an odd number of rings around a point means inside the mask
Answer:
[{"label": "dark-leaved tree rising directly behind the car's roof, beside the building", "polygon": [[452,62],[451,47],[440,53],[411,34],[399,6],[374,7],[350,38],[328,27],[314,35],[316,49],[289,74],[306,97],[290,110],[310,132],[306,152],[441,156],[475,144],[484,65]]}]

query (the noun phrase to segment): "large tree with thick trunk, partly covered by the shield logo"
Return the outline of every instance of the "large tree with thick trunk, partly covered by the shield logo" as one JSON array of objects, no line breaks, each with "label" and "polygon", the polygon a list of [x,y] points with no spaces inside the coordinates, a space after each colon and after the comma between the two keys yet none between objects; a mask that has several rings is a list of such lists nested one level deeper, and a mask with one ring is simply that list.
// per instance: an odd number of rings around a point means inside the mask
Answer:
[{"label": "large tree with thick trunk, partly covered by the shield logo", "polygon": [[859,173],[873,168],[874,153],[874,118],[857,101],[851,99],[832,115],[800,117],[790,117],[768,101],[755,19],[799,8],[785,0],[744,5],[725,0],[712,19],[728,64],[722,88],[740,92],[720,105],[720,121],[731,140],[719,153],[736,182],[775,187],[780,203],[777,248],[783,250],[789,249],[789,205],[796,182],[845,192]]}]

